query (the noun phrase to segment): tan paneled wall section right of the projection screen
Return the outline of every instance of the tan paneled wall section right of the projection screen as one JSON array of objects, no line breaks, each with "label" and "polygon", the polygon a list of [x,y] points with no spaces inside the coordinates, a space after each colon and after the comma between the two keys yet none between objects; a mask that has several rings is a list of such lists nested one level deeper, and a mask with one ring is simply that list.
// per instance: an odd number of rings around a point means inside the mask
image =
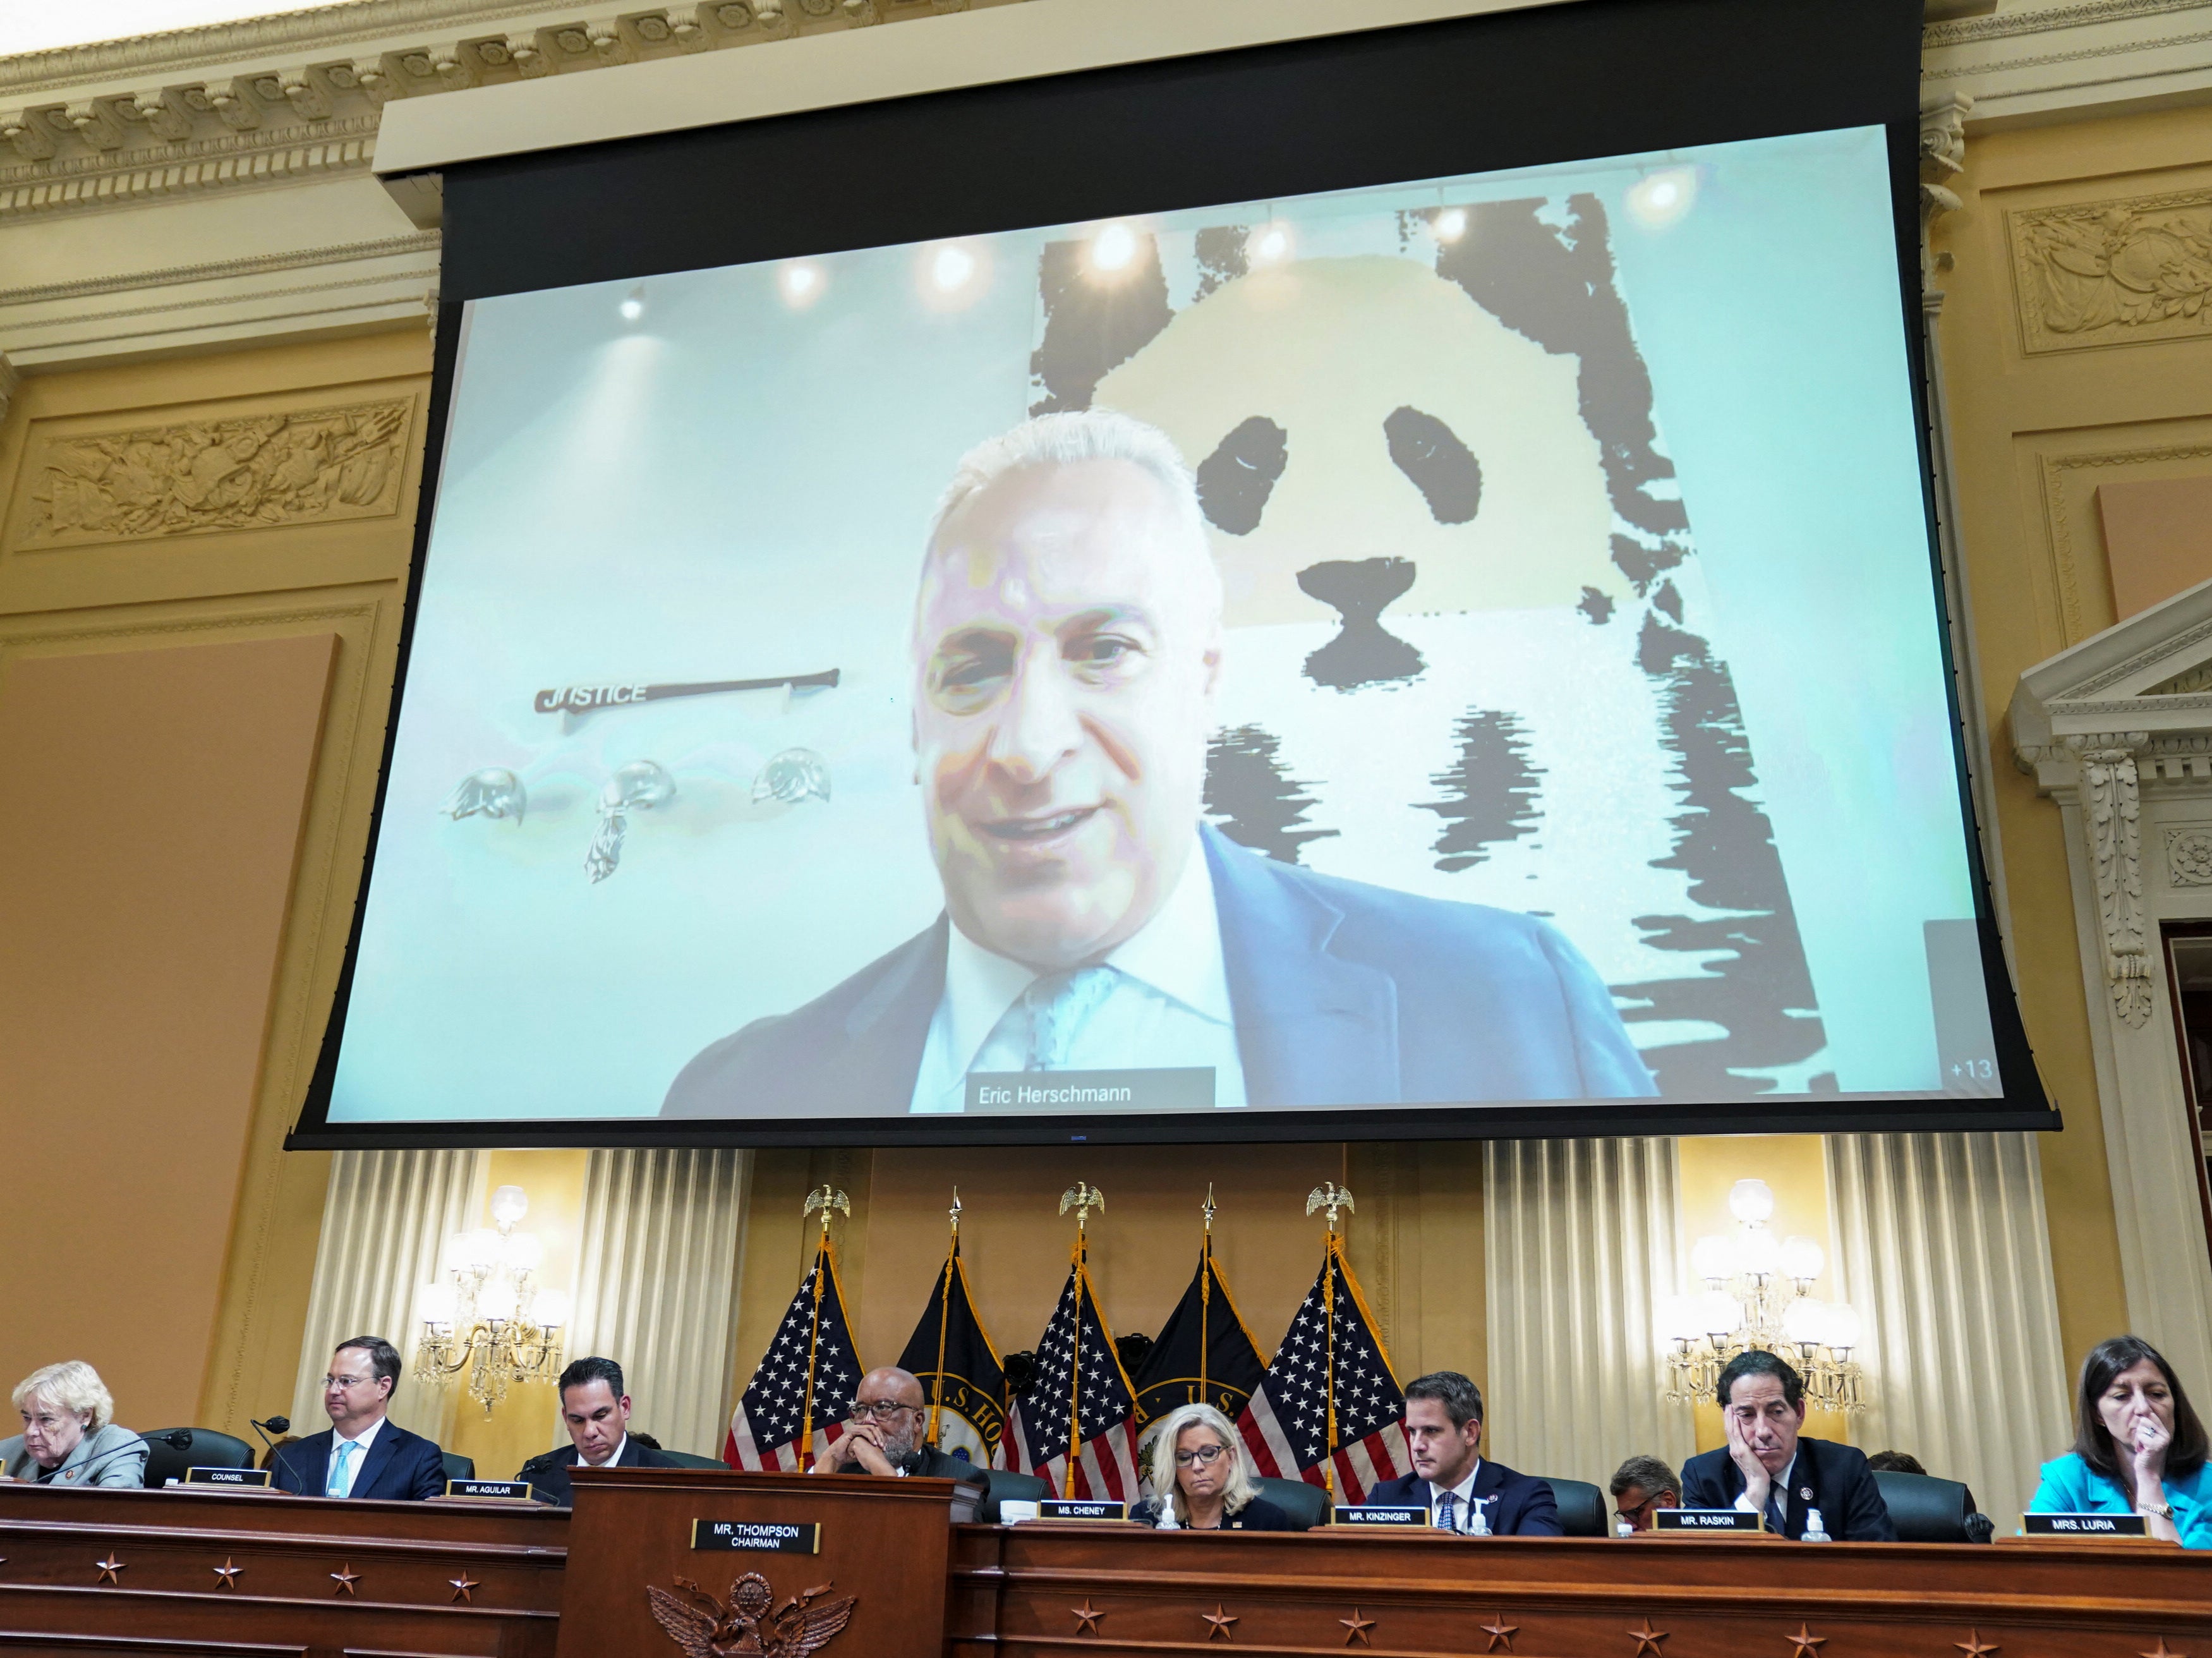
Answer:
[{"label": "tan paneled wall section right of the projection screen", "polygon": [[[2148,197],[2205,199],[2212,117],[2168,111],[1971,137],[1964,186],[1964,208],[1938,223],[1938,245],[1955,261],[1938,276],[1942,371],[1980,692],[2002,710],[2024,668],[2117,619],[2097,486],[2212,471],[2201,321],[2081,327],[2053,307],[2051,237],[2104,232],[2051,210],[2095,206],[2126,228]],[[2128,1302],[2073,889],[2059,809],[2013,765],[2002,714],[1989,738],[1980,763],[1997,800],[2020,1008],[2044,1085],[2066,1112],[2042,1167],[2059,1322],[2077,1362],[2124,1329]]]}]

